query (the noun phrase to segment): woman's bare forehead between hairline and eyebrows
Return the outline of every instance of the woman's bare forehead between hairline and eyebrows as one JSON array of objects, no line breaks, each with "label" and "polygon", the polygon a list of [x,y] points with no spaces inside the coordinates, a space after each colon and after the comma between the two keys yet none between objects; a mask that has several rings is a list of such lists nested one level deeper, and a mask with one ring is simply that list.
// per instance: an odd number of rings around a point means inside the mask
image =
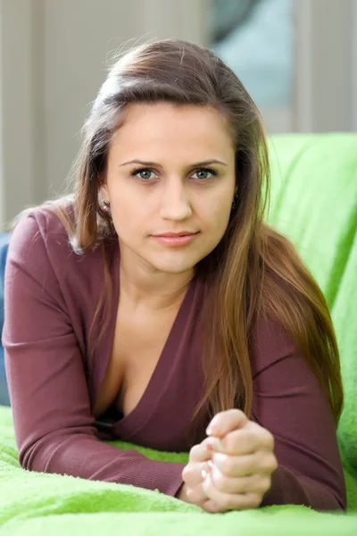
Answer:
[{"label": "woman's bare forehead between hairline and eyebrows", "polygon": [[164,102],[127,105],[111,148],[117,154],[135,151],[134,156],[138,149],[142,156],[160,148],[176,154],[199,153],[203,159],[212,153],[228,157],[234,152],[228,121],[218,110]]}]

